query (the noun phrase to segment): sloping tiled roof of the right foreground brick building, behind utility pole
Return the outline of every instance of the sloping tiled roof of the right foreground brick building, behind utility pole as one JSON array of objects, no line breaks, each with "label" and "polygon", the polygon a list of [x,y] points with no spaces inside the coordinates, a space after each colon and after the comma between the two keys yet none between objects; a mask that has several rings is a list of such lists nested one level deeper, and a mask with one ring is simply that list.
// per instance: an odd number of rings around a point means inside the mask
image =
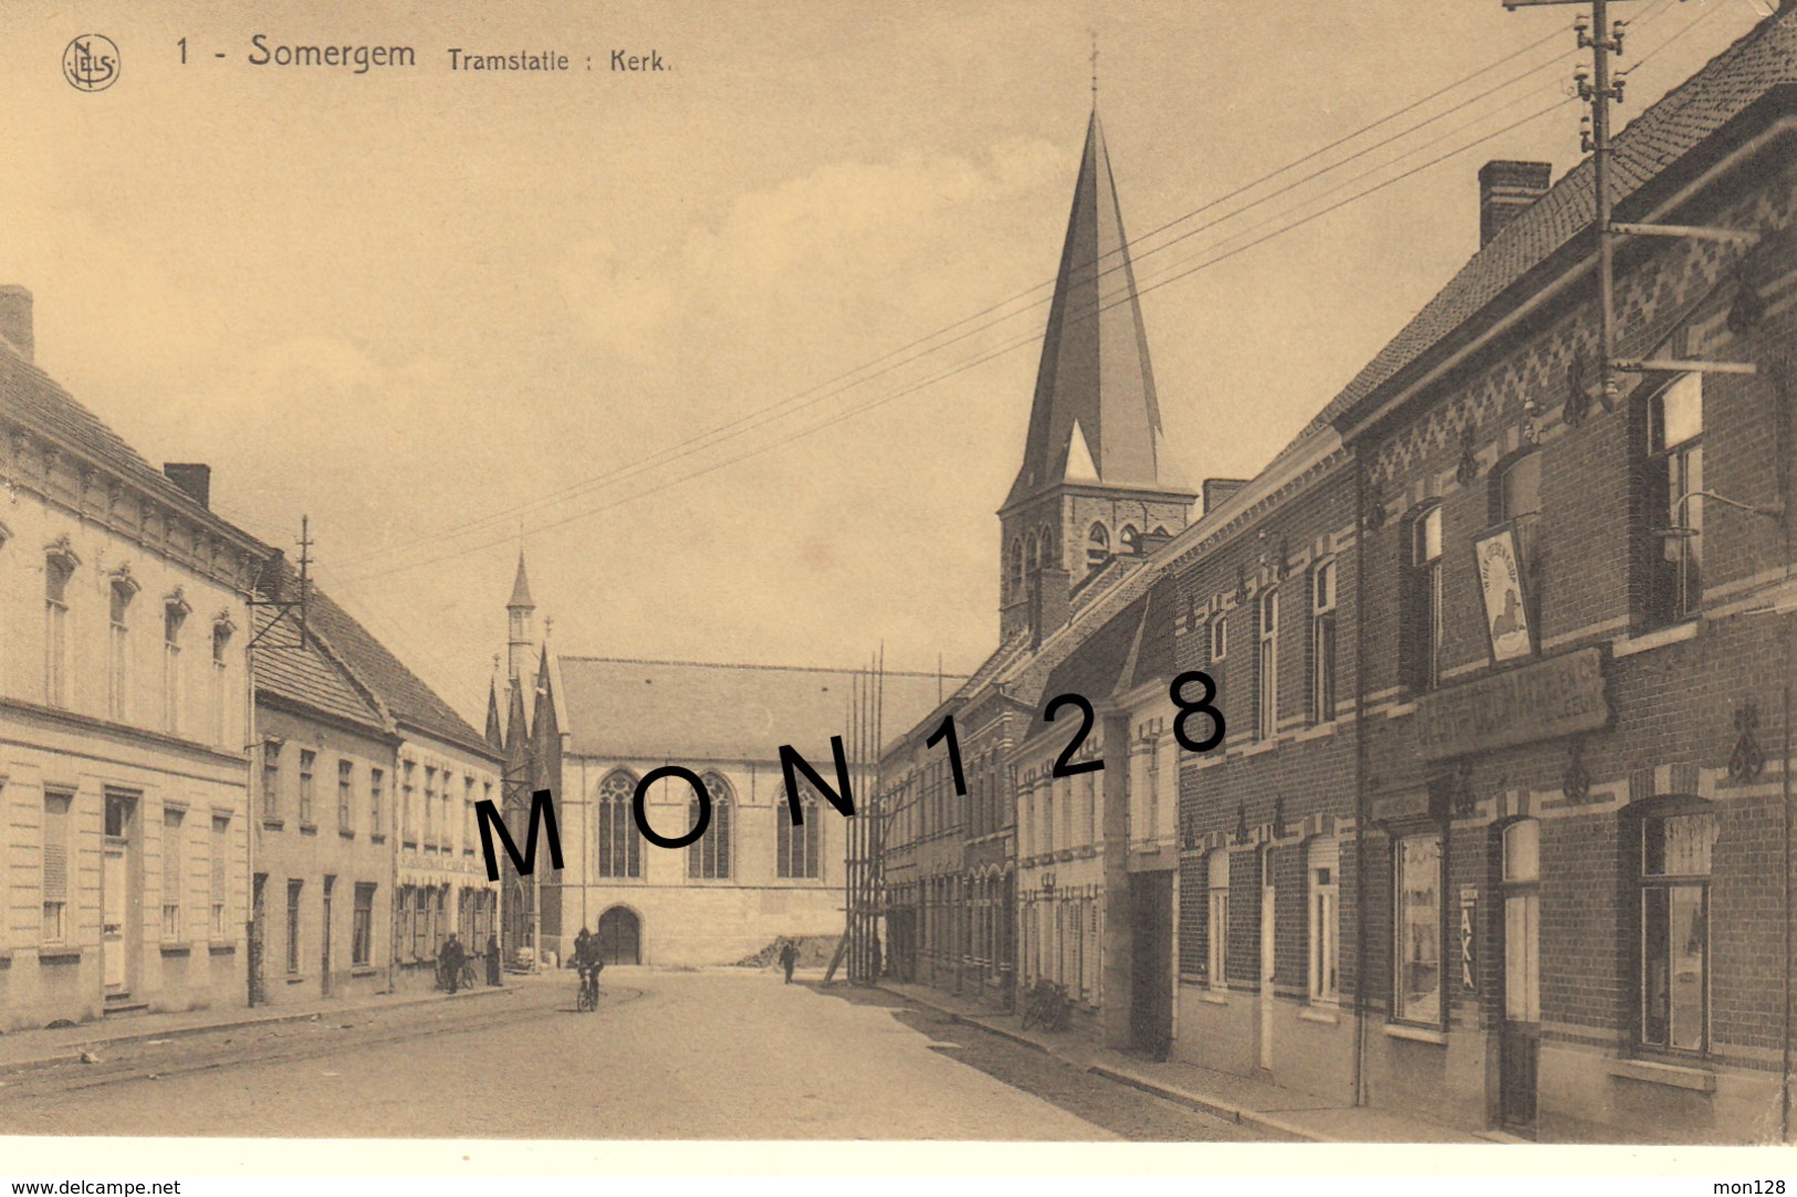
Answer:
[{"label": "sloping tiled roof of the right foreground brick building, behind utility pole", "polygon": [[[1784,4],[1612,142],[1610,198],[1621,205],[1748,104],[1797,83],[1797,5]],[[1522,210],[1355,376],[1306,433],[1357,408],[1533,268],[1590,230],[1592,162],[1572,167]],[[1299,437],[1303,439],[1303,437]]]}]

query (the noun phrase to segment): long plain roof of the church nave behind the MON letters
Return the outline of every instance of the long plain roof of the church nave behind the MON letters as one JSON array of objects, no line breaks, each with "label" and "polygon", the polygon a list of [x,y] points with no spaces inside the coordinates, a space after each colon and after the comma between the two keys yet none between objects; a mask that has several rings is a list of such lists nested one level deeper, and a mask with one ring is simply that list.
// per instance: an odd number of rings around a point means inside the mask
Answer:
[{"label": "long plain roof of the church nave behind the MON letters", "polygon": [[[778,760],[792,744],[830,760],[848,742],[857,670],[561,658],[570,751],[636,760]],[[958,676],[888,672],[882,730],[909,728],[961,683]]]}]

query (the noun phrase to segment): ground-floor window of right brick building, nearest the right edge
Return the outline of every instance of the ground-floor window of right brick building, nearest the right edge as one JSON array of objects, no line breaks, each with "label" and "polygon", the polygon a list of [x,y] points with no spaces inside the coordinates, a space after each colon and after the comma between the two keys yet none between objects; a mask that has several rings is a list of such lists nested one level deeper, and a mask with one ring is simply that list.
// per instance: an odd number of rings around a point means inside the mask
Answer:
[{"label": "ground-floor window of right brick building, nearest the right edge", "polygon": [[1709,1050],[1709,868],[1716,814],[1641,820],[1641,1046]]}]

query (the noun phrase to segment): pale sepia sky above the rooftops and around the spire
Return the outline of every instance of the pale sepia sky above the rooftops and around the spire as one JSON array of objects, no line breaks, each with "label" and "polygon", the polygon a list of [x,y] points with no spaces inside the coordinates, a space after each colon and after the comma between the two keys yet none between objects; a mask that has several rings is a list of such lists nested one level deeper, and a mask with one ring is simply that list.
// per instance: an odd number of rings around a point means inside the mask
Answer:
[{"label": "pale sepia sky above the rooftops and around the spire", "polygon": [[[1614,4],[1619,122],[1770,2]],[[476,726],[519,548],[564,656],[978,665],[1094,38],[1193,482],[1254,474],[1477,250],[1481,164],[1580,158],[1569,5],[246,7],[0,7],[0,282],[147,458],[289,555],[307,516],[320,584]]]}]

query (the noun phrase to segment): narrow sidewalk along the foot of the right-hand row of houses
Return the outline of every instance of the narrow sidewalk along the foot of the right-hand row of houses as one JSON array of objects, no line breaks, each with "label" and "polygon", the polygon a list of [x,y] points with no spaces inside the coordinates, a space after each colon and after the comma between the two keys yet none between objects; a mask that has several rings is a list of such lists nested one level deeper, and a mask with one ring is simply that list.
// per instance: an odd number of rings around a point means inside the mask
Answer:
[{"label": "narrow sidewalk along the foot of the right-hand row of houses", "polygon": [[1181,1105],[1218,1118],[1260,1127],[1276,1136],[1312,1143],[1490,1143],[1492,1139],[1441,1127],[1418,1118],[1346,1105],[1276,1086],[1256,1077],[1236,1077],[1197,1064],[1157,1064],[1100,1048],[1078,1033],[1026,1032],[1012,1014],[961,1001],[925,985],[882,983],[890,994],[929,1006],[958,1023],[979,1026],[1024,1046],[1046,1051],[1073,1068],[1134,1086]]}]

